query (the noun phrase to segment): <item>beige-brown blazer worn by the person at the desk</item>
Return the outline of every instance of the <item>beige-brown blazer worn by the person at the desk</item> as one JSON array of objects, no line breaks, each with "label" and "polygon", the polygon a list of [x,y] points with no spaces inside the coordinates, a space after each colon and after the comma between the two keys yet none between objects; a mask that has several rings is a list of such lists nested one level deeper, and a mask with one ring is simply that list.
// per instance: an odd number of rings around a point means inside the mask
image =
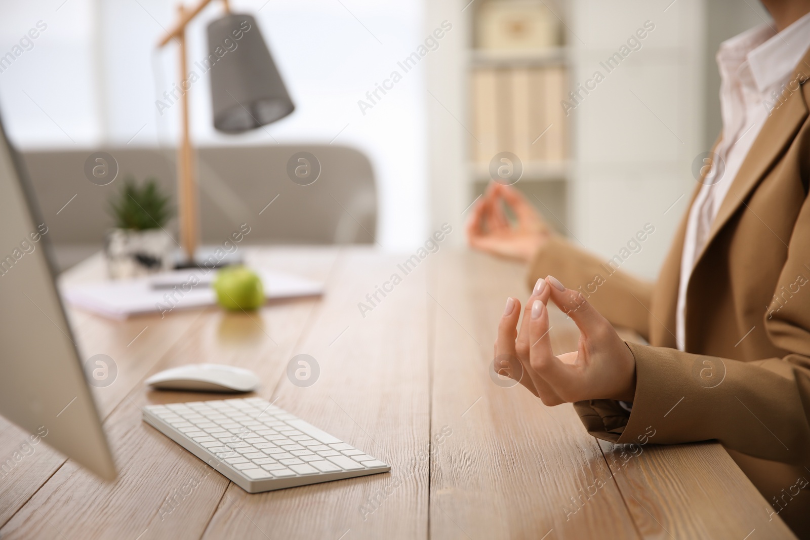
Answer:
[{"label": "beige-brown blazer worn by the person at the desk", "polygon": [[[803,74],[810,52],[791,80]],[[588,300],[608,321],[650,342],[628,343],[632,414],[610,400],[575,404],[588,432],[624,443],[652,426],[657,444],[718,440],[773,511],[810,536],[810,489],[791,495],[798,478],[810,481],[808,103],[810,83],[785,96],[720,206],[689,279],[687,352],[675,338],[686,215],[654,284],[608,274],[606,261],[560,238],[536,254],[529,283],[552,274],[566,287],[595,289]]]}]

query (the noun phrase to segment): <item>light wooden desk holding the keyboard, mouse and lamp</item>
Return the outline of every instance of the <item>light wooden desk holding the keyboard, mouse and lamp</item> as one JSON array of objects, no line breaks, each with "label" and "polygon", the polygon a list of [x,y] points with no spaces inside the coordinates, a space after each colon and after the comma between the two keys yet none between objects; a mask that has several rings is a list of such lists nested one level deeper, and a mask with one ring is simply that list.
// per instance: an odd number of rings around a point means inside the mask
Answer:
[{"label": "light wooden desk holding the keyboard, mouse and lamp", "polygon": [[[248,255],[324,279],[326,296],[249,316],[208,308],[115,322],[71,311],[83,357],[117,363],[96,395],[120,476],[103,483],[36,445],[0,480],[2,538],[793,538],[719,444],[647,444],[625,462],[572,406],[494,384],[505,298],[527,296],[521,266],[447,249],[407,275],[397,266],[407,256],[370,249]],[[402,283],[363,317],[357,304],[394,273]],[[100,274],[96,258],[64,279]],[[552,325],[555,350],[572,350],[576,327],[559,312]],[[320,365],[309,388],[286,376],[299,353]],[[248,495],[141,420],[147,403],[216,397],[143,386],[195,362],[253,369],[258,395],[391,473]],[[0,433],[5,460],[25,435],[5,420]]]}]

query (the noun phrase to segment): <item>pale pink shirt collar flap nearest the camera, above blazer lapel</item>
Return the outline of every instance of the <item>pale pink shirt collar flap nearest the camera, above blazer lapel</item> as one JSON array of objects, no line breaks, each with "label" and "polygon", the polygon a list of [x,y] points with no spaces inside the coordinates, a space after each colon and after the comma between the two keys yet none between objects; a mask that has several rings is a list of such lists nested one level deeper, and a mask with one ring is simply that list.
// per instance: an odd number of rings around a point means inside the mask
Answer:
[{"label": "pale pink shirt collar flap nearest the camera, above blazer lapel", "polygon": [[[763,25],[768,28],[767,25]],[[760,27],[761,30],[763,30]],[[769,28],[770,30],[770,28]],[[746,59],[757,90],[765,92],[791,76],[810,47],[810,13],[748,52]],[[765,36],[766,33],[761,34]],[[808,70],[810,71],[810,66]]]}]

